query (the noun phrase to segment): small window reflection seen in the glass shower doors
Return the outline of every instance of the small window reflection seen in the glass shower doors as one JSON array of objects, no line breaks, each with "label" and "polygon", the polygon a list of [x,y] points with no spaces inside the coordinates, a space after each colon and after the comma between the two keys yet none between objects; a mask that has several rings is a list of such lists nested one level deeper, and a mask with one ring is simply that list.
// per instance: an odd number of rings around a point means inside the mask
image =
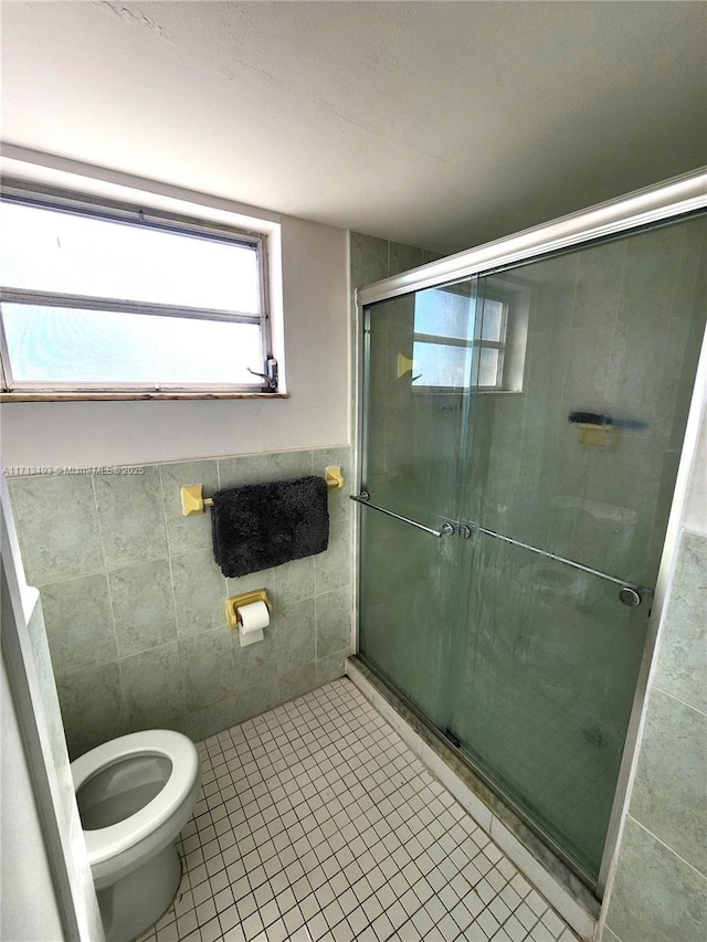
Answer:
[{"label": "small window reflection seen in the glass shower doors", "polygon": [[508,385],[506,339],[509,300],[502,294],[473,296],[473,283],[430,288],[415,295],[412,351],[418,388],[481,391]]}]

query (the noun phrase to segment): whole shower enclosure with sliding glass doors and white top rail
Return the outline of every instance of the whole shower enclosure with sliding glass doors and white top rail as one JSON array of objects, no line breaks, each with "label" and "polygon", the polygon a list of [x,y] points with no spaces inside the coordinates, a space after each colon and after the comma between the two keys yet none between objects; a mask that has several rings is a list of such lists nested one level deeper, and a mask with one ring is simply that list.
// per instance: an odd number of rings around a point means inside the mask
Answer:
[{"label": "whole shower enclosure with sliding glass doors and white top rail", "polygon": [[705,332],[704,183],[358,297],[358,656],[598,898]]}]

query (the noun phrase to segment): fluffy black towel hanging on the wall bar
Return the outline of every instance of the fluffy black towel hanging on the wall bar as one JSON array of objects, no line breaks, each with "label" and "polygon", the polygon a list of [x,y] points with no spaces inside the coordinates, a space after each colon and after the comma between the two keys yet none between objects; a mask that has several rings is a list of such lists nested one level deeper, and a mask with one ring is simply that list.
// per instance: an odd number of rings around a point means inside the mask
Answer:
[{"label": "fluffy black towel hanging on the wall bar", "polygon": [[251,484],[213,495],[213,555],[228,576],[321,553],[329,542],[323,477]]}]

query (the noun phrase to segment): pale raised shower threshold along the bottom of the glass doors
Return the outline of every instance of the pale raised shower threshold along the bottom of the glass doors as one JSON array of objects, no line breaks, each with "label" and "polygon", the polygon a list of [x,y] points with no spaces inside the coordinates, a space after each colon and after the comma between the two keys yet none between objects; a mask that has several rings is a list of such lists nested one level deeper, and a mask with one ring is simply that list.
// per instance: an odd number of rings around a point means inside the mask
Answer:
[{"label": "pale raised shower threshold along the bottom of the glass doors", "polygon": [[601,903],[557,850],[483,780],[452,741],[360,655],[347,674],[408,747],[488,836],[541,889],[581,938],[591,938]]}]

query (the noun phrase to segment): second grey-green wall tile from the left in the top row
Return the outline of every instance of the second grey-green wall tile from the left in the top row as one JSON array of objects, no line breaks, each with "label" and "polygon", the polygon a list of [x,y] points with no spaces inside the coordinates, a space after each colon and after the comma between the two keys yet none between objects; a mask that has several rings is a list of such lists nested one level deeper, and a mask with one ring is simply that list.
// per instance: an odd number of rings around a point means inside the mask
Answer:
[{"label": "second grey-green wall tile from the left in the top row", "polygon": [[167,558],[159,469],[141,475],[94,475],[98,526],[108,569]]}]

